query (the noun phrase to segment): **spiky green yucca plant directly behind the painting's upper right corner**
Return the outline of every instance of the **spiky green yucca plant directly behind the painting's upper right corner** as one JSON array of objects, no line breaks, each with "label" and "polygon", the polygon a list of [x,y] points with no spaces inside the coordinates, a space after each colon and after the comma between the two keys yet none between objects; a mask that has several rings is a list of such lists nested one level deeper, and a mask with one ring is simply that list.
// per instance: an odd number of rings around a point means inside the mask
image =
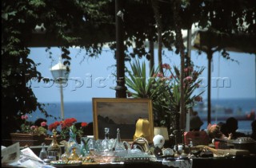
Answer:
[{"label": "spiky green yucca plant directly behind the painting's upper right corner", "polygon": [[[130,62],[131,71],[126,69],[126,87],[128,97],[149,98],[152,100],[154,111],[154,125],[166,125],[168,120],[168,84],[164,84],[162,80],[156,80],[156,77],[148,77],[146,75],[146,64],[142,65],[138,60]],[[158,68],[150,74],[156,74]],[[167,87],[167,88],[166,88]]]}]

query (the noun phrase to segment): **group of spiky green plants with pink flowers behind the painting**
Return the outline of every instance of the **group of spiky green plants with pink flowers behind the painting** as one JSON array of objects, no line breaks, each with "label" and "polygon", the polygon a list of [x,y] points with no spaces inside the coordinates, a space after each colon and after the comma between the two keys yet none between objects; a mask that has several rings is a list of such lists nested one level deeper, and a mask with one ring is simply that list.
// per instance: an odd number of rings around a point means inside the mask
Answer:
[{"label": "group of spiky green plants with pink flowers behind the painting", "polygon": [[[152,77],[146,76],[146,64],[138,60],[130,63],[131,71],[126,70],[127,95],[134,98],[150,98],[153,104],[154,125],[170,126],[175,115],[180,111],[180,72],[177,66],[174,70],[169,64],[162,64],[163,73],[156,68]],[[195,101],[202,101],[201,94],[194,94],[201,80],[198,76],[204,68],[187,67],[184,69],[184,100],[186,109],[194,106]]]}]

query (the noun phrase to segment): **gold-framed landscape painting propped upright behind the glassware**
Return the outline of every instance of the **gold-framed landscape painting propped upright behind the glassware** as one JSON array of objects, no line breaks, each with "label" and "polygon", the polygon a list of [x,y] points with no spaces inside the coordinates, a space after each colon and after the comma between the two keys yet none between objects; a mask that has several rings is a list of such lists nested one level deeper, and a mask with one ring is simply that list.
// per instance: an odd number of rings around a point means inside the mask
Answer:
[{"label": "gold-framed landscape painting propped upright behind the glassware", "polygon": [[[150,122],[150,141],[154,138],[154,121],[150,99],[93,98],[94,139],[104,139],[104,128],[109,127],[110,139],[120,130],[122,141],[133,142],[138,119]],[[152,140],[152,141],[151,141]]]}]

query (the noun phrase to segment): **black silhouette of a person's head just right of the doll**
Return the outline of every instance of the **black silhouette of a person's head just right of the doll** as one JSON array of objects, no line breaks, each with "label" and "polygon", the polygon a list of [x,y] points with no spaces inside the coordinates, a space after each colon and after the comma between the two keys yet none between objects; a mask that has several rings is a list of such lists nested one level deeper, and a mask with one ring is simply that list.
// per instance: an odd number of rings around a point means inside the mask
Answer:
[{"label": "black silhouette of a person's head just right of the doll", "polygon": [[239,137],[245,137],[246,134],[238,132],[238,119],[230,117],[226,119],[226,131],[228,134],[232,134],[232,139],[237,139]]}]

